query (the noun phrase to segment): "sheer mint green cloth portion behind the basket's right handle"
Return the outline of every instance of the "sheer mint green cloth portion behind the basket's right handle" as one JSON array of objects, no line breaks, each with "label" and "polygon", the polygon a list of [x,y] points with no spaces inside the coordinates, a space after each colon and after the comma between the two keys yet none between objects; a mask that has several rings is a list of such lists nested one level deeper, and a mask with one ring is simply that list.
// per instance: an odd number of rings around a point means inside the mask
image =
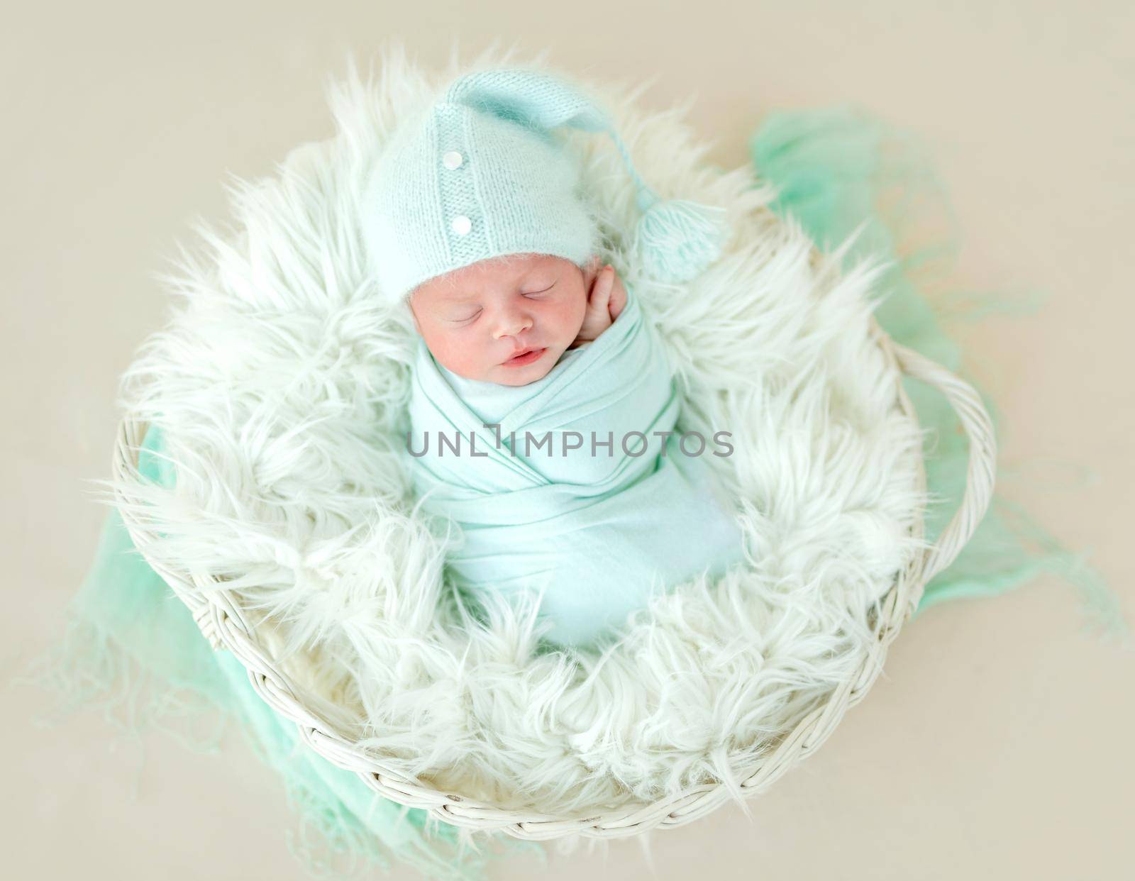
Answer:
[{"label": "sheer mint green cloth portion behind the basket's right handle", "polygon": [[[897,342],[982,392],[938,313],[974,320],[993,312],[1023,312],[1039,299],[942,290],[957,249],[957,225],[925,153],[910,134],[848,106],[770,114],[749,142],[757,174],[779,188],[774,210],[793,217],[822,247],[831,250],[866,221],[846,260],[878,254],[893,261],[882,282],[890,295],[875,312],[880,325]],[[935,500],[926,531],[933,539],[961,500],[968,446],[939,392],[910,379],[906,389],[919,422],[934,429],[926,445],[926,481]],[[982,396],[999,425],[995,403]],[[1084,556],[1062,547],[1001,494],[953,564],[926,586],[916,616],[942,601],[999,594],[1044,572],[1078,589],[1086,627],[1130,638],[1117,595]]]}]

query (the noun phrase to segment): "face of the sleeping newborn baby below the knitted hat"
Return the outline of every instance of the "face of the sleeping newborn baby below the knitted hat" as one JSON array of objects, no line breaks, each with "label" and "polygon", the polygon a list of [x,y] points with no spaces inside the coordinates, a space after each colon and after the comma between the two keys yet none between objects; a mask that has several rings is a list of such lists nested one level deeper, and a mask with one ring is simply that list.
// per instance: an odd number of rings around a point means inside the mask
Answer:
[{"label": "face of the sleeping newborn baby below the knitted hat", "polygon": [[[521,386],[545,376],[579,334],[583,270],[548,254],[481,260],[419,285],[414,327],[447,370]],[[528,354],[513,358],[524,350]]]}]

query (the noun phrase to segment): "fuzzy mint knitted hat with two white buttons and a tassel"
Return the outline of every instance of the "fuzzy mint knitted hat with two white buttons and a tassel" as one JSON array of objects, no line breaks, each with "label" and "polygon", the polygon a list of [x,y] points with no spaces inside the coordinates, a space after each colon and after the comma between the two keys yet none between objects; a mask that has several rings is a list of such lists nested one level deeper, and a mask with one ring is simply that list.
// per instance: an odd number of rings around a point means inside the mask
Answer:
[{"label": "fuzzy mint knitted hat with two white buttons and a tassel", "polygon": [[403,124],[376,166],[362,212],[384,296],[396,302],[430,278],[504,254],[585,266],[598,226],[578,162],[552,135],[557,126],[614,140],[644,212],[633,247],[646,275],[686,282],[721,254],[725,210],[661,201],[609,116],[579,90],[538,70],[480,70]]}]

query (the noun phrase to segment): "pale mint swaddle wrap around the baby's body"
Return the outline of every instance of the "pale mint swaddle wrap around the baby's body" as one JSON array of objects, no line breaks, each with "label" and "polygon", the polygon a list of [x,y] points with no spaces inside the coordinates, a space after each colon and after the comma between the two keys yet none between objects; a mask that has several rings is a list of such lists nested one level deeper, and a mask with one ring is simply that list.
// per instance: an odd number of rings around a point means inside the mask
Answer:
[{"label": "pale mint swaddle wrap around the baby's body", "polygon": [[683,452],[665,350],[627,296],[595,342],[524,386],[462,381],[419,338],[407,452],[422,509],[461,529],[449,571],[474,599],[543,590],[557,645],[589,644],[655,590],[743,560],[704,459],[730,447],[689,436]]}]

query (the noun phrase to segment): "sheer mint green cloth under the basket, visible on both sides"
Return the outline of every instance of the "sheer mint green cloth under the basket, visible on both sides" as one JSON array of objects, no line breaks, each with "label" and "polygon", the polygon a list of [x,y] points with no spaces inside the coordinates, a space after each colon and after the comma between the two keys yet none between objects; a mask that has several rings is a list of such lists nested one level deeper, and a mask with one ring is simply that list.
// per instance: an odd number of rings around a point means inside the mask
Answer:
[{"label": "sheer mint green cloth under the basket, visible on both sides", "polygon": [[[897,261],[888,277],[893,292],[878,311],[883,327],[898,342],[959,370],[961,353],[931,308],[934,283],[927,272],[950,257],[956,234],[948,203],[916,146],[848,108],[772,114],[750,142],[758,173],[780,186],[775,209],[792,215],[819,242],[834,244],[868,220],[855,254],[871,249]],[[927,217],[933,221],[927,224]],[[945,302],[970,318],[1007,308],[1003,296],[947,293],[935,296],[935,305]],[[914,381],[908,391],[923,425],[936,435],[927,451],[927,484],[940,500],[927,522],[933,536],[960,498],[967,448],[936,392]],[[143,468],[153,479],[169,480],[159,442],[157,433],[148,436]],[[1090,611],[1129,634],[1115,596],[1084,559],[1000,496],[958,560],[927,587],[908,627],[917,628],[918,615],[934,604],[999,594],[1043,572],[1065,577],[1081,589]],[[288,833],[288,846],[321,876],[344,876],[372,864],[386,871],[409,865],[428,878],[482,879],[490,857],[544,853],[538,845],[502,837],[498,844],[507,847],[498,853],[462,854],[452,827],[427,823],[423,812],[375,797],[354,774],[312,753],[295,725],[277,718],[253,691],[236,658],[208,648],[185,606],[134,551],[115,511],[70,603],[61,641],[33,670],[34,681],[61,696],[47,721],[58,723],[74,710],[98,706],[131,738],[140,761],[146,729],[208,752],[219,749],[226,730],[242,732],[258,758],[279,774],[299,814],[300,833]],[[269,791],[263,798],[278,795]]]}]

